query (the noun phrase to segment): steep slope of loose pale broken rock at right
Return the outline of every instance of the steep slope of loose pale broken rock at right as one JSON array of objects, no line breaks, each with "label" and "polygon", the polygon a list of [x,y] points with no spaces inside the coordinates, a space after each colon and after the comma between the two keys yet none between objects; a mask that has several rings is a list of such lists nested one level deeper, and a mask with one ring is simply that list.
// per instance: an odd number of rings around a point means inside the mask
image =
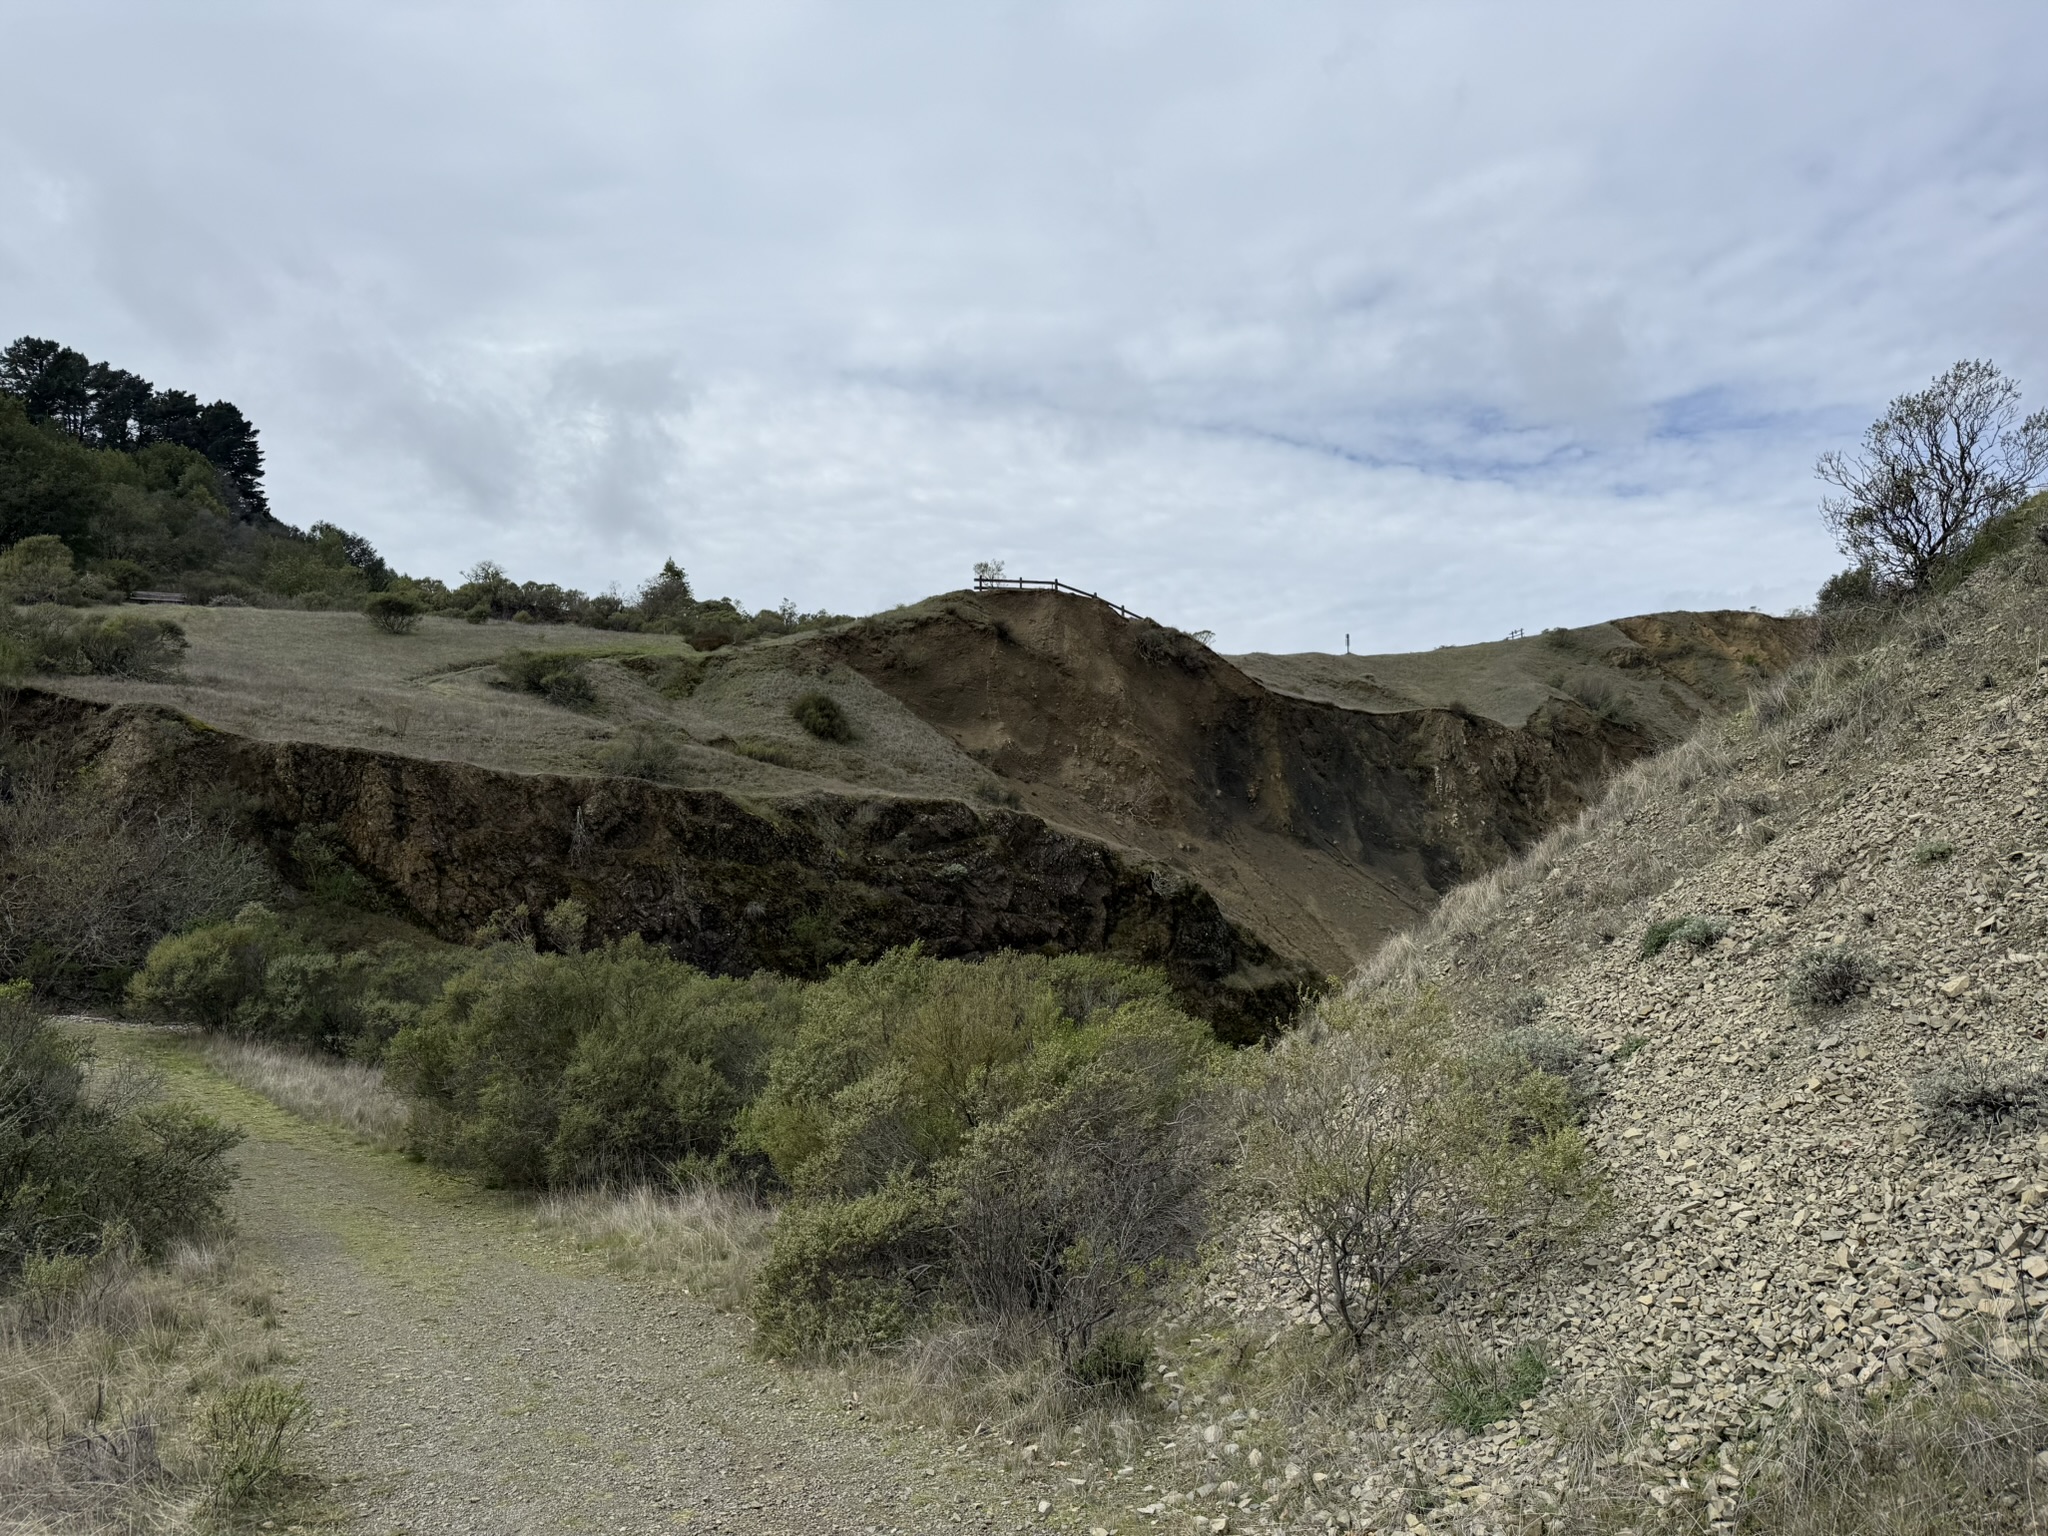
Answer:
[{"label": "steep slope of loose pale broken rock at right", "polygon": [[[1321,1448],[1321,1524],[1520,1530],[1597,1495],[1733,1528],[1802,1403],[2042,1358],[2044,596],[2030,541],[1868,653],[1796,668],[1360,975],[1440,987],[1470,1028],[1575,1034],[1614,1212],[1536,1274],[1481,1257],[1397,1329],[1405,1364]],[[1675,918],[1700,942],[1645,956]],[[1309,1325],[1249,1241],[1206,1305]],[[1444,1430],[1423,1360],[1446,1339],[1534,1346],[1550,1384]],[[1989,1516],[2017,1530],[2036,1493]]]}]

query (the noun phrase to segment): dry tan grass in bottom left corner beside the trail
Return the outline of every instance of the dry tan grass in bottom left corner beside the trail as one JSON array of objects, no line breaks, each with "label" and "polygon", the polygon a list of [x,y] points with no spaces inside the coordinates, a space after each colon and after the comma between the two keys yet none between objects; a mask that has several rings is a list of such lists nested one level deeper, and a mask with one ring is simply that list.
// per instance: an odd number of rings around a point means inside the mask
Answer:
[{"label": "dry tan grass in bottom left corner beside the trail", "polygon": [[188,1530],[215,1493],[203,1407],[276,1364],[270,1325],[223,1247],[33,1274],[0,1303],[0,1524]]}]

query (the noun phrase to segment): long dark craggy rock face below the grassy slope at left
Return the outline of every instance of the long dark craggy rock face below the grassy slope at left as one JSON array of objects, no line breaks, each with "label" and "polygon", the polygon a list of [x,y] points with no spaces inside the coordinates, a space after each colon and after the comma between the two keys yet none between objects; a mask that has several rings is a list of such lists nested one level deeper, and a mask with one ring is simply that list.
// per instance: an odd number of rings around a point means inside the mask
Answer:
[{"label": "long dark craggy rock face below the grassy slope at left", "polygon": [[63,737],[119,793],[231,793],[281,860],[307,827],[442,938],[563,897],[592,938],[641,934],[719,973],[817,975],[922,942],[1108,952],[1167,973],[1225,1038],[1292,1012],[1300,963],[1194,881],[1008,809],[811,795],[748,805],[637,778],[252,741],[166,711],[25,694],[14,727]]}]

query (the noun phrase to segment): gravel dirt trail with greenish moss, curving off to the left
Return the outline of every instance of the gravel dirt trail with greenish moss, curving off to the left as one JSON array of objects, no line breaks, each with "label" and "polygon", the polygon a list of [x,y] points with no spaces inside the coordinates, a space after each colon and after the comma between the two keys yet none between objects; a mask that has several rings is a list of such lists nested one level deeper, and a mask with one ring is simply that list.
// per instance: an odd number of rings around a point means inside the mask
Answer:
[{"label": "gravel dirt trail with greenish moss, curving off to the left", "polygon": [[[285,1114],[180,1040],[106,1028],[242,1124],[238,1219],[274,1268],[305,1458],[342,1528],[926,1532],[1026,1524],[1022,1485],[860,1423],[741,1329],[475,1190]],[[932,1470],[928,1470],[932,1468]]]}]

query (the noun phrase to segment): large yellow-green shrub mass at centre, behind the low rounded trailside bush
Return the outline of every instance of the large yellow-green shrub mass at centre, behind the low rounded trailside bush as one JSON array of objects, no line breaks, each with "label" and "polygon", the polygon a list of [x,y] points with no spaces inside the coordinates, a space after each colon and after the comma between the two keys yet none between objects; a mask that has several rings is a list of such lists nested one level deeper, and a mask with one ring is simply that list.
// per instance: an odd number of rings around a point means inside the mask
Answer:
[{"label": "large yellow-green shrub mass at centre, behind the low rounded trailside bush", "polygon": [[1092,956],[842,967],[805,989],[739,1141],[807,1208],[928,1192],[942,1241],[903,1284],[1071,1364],[1202,1231],[1223,1049],[1161,991]]}]

